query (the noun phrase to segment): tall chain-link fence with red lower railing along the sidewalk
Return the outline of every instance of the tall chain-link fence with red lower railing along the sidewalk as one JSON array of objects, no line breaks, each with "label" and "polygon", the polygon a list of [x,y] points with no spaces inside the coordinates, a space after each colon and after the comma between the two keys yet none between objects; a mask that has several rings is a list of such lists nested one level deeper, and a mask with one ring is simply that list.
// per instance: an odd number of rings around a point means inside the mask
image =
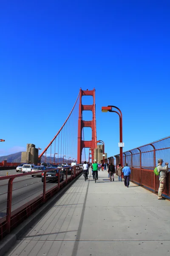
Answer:
[{"label": "tall chain-link fence with red lower railing along the sidewalk", "polygon": [[[163,159],[164,163],[170,163],[170,136],[123,152],[123,165],[127,163],[130,167],[131,181],[139,184],[140,186],[144,186],[153,192],[158,192],[159,177],[154,175],[153,170],[157,166],[159,158]],[[117,154],[114,157],[108,157],[108,160],[109,163],[112,162],[116,166],[117,174],[117,166],[118,163],[120,163],[120,155]],[[164,190],[164,195],[167,198],[170,198],[169,176],[170,175],[168,173],[166,179],[166,188]]]}]

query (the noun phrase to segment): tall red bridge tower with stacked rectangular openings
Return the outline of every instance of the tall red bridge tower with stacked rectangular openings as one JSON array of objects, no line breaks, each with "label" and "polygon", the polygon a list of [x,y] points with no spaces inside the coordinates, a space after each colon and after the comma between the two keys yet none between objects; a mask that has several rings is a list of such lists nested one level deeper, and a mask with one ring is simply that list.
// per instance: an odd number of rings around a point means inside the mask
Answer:
[{"label": "tall red bridge tower with stacked rectangular openings", "polygon": [[[93,105],[82,105],[82,96],[93,96]],[[83,121],[82,111],[91,110],[93,113],[93,120]],[[82,128],[91,127],[92,139],[90,141],[82,140]],[[94,90],[82,90],[79,92],[79,120],[78,120],[78,145],[77,145],[77,162],[82,162],[82,149],[83,148],[96,148],[96,105],[95,105],[95,89]],[[92,161],[94,155],[92,155]]]}]

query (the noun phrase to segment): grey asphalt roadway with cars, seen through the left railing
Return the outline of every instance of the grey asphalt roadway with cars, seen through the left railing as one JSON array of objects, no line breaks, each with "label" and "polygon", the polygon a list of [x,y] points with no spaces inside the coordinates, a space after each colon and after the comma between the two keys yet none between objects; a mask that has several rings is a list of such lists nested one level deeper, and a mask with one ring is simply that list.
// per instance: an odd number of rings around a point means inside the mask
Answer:
[{"label": "grey asphalt roadway with cars, seen through the left railing", "polygon": [[[0,172],[1,176],[5,176],[6,170]],[[16,170],[8,170],[8,175],[14,174],[18,174],[18,172],[16,172]],[[68,175],[68,177],[70,176],[71,175]],[[56,185],[57,183],[47,181],[46,190]],[[12,190],[12,210],[14,210],[41,195],[43,192],[43,183],[41,177],[31,177],[31,175],[16,177],[13,182]],[[7,191],[8,180],[0,180],[0,217],[6,215]]]}]

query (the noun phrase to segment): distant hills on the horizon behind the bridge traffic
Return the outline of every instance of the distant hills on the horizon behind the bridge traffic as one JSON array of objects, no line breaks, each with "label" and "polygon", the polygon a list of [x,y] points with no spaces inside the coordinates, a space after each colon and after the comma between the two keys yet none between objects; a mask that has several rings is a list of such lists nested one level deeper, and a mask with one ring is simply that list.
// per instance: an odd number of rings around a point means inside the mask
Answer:
[{"label": "distant hills on the horizon behind the bridge traffic", "polygon": [[[7,163],[21,163],[21,153],[22,152],[17,152],[17,153],[10,154],[10,155],[7,155],[7,156],[2,156],[2,157],[0,157],[0,163],[3,160],[7,160]],[[53,161],[54,161],[54,157],[51,157],[51,163],[53,163]],[[42,156],[41,157],[41,163],[42,162],[50,163],[50,157],[45,158],[45,156]],[[55,158],[55,162],[56,163],[62,163],[62,157]],[[64,162],[68,163],[68,160],[64,159]]]}]

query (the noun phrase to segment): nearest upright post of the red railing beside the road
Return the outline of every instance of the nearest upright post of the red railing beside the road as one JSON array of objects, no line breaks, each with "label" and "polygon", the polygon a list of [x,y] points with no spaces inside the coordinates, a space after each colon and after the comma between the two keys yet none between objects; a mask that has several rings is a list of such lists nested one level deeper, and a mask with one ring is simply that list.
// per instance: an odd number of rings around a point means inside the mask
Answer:
[{"label": "nearest upright post of the red railing beside the road", "polygon": [[11,229],[11,204],[12,204],[12,182],[14,178],[8,181],[8,197],[7,197],[7,209],[6,209],[6,230],[10,233]]}]

